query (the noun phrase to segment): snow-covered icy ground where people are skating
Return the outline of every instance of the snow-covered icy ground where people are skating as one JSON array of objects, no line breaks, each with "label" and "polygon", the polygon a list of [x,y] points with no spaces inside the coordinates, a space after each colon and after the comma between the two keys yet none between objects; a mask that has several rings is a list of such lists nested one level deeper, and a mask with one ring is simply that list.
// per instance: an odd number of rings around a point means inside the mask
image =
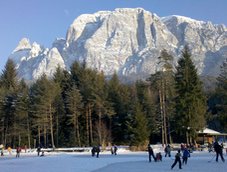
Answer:
[{"label": "snow-covered icy ground where people are skating", "polygon": [[[172,157],[163,157],[162,162],[148,162],[147,152],[130,152],[119,150],[118,155],[101,152],[100,157],[92,157],[90,152],[83,153],[45,153],[38,157],[36,151],[22,153],[15,158],[15,153],[0,157],[1,172],[226,172],[227,162],[215,161],[215,153],[195,151],[187,165],[179,169],[178,164],[170,169],[174,162]],[[164,153],[162,152],[162,155]],[[227,156],[224,156],[227,159]],[[213,158],[213,159],[212,159]],[[211,162],[209,162],[212,160]]]}]

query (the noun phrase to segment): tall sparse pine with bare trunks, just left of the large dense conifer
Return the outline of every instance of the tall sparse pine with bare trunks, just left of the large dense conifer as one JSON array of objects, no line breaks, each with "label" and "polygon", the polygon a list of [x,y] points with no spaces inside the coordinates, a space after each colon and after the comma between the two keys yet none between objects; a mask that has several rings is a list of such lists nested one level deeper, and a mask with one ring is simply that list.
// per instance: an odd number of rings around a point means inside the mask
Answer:
[{"label": "tall sparse pine with bare trunks, just left of the large dense conifer", "polygon": [[152,74],[148,81],[151,90],[157,96],[157,116],[159,124],[156,127],[161,129],[162,144],[171,142],[170,121],[174,114],[174,72],[173,72],[173,56],[168,54],[166,50],[161,51],[159,62],[157,64],[157,72]]}]

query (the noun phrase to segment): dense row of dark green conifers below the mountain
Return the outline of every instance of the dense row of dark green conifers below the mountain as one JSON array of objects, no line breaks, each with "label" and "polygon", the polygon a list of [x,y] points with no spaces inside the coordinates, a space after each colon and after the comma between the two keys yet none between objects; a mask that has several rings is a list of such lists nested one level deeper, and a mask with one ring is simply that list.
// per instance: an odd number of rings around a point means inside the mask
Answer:
[{"label": "dense row of dark green conifers below the mountain", "polygon": [[186,46],[174,65],[166,50],[157,71],[133,84],[74,62],[28,85],[9,59],[0,75],[0,142],[16,147],[70,147],[148,142],[193,143],[197,131],[226,131],[227,63],[206,93]]}]

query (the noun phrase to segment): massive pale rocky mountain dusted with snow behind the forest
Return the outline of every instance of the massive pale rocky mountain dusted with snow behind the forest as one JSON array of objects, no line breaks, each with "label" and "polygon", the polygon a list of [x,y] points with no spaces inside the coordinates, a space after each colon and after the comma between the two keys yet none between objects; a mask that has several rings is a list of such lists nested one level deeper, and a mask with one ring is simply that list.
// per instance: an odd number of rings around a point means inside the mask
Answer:
[{"label": "massive pale rocky mountain dusted with snow behind the forest", "polygon": [[69,69],[77,60],[106,75],[146,77],[157,69],[166,49],[180,57],[189,45],[199,74],[217,76],[227,58],[227,28],[182,16],[160,18],[141,8],[84,14],[74,20],[65,39],[47,49],[24,38],[10,55],[20,77],[51,76],[60,65]]}]

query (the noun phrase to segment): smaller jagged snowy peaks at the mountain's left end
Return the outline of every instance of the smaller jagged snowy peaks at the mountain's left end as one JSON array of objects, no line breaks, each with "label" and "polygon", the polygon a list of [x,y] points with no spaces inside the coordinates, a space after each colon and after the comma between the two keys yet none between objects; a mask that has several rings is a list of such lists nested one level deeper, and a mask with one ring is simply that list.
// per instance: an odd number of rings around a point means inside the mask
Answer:
[{"label": "smaller jagged snowy peaks at the mountain's left end", "polygon": [[27,38],[20,41],[9,58],[16,63],[19,77],[29,81],[38,79],[44,73],[52,76],[58,65],[65,68],[57,48],[45,49],[36,42],[30,45]]}]

